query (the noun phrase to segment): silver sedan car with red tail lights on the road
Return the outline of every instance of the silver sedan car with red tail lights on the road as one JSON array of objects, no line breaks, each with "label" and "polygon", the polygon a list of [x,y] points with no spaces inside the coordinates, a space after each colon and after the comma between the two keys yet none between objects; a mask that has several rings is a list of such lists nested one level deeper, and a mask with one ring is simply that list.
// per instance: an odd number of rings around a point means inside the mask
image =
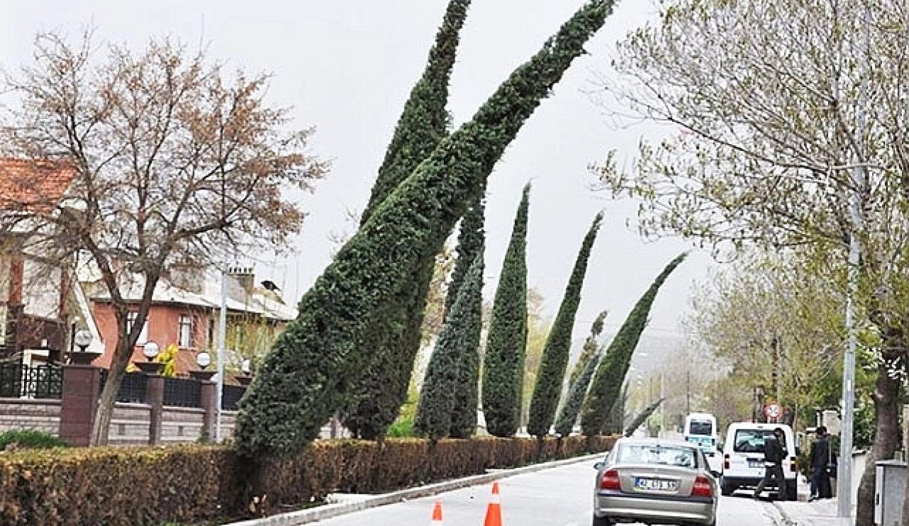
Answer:
[{"label": "silver sedan car with red tail lights on the road", "polygon": [[594,526],[716,524],[720,474],[697,444],[623,438],[594,467]]}]

